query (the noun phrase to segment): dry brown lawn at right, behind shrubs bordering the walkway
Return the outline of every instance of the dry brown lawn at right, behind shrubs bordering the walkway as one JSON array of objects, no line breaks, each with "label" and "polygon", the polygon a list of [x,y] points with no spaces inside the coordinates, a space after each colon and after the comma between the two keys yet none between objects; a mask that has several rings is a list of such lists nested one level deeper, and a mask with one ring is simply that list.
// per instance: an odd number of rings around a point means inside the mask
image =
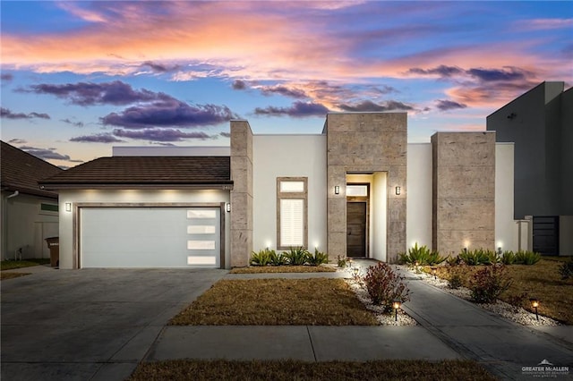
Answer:
[{"label": "dry brown lawn at right, behind shrubs bordering the walkway", "polygon": [[[511,265],[508,274],[513,283],[500,299],[531,310],[529,298],[540,301],[539,313],[560,322],[573,325],[573,279],[562,280],[560,260],[541,259],[533,266]],[[429,268],[429,267],[428,267]],[[437,267],[440,278],[449,279],[448,267]],[[470,276],[480,267],[466,267],[463,276],[467,286]]]}]

